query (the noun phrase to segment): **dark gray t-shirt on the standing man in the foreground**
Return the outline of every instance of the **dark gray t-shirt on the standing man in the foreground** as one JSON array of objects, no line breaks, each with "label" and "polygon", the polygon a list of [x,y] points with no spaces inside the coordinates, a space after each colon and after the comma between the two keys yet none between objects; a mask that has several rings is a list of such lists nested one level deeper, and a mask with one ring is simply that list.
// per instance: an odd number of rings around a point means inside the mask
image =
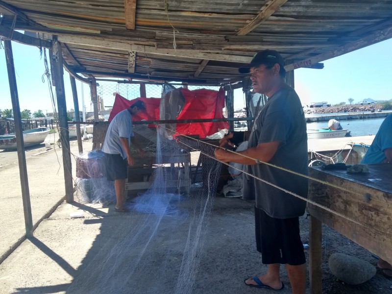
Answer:
[{"label": "dark gray t-shirt on the standing man in the foreground", "polygon": [[[250,134],[249,148],[274,141],[280,142],[280,145],[270,164],[301,174],[309,173],[305,116],[292,88],[277,91],[260,110]],[[266,164],[247,167],[248,172],[259,178],[297,195],[308,196],[308,179],[305,177]],[[265,182],[246,177],[244,185],[250,185],[248,191],[255,194],[256,207],[272,218],[294,218],[305,212],[306,201]]]}]

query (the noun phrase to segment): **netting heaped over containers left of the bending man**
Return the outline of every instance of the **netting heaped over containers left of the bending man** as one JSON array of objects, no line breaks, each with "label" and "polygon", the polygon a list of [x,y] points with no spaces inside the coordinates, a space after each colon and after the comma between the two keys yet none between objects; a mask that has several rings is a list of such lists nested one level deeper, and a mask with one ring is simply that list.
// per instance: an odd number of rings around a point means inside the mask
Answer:
[{"label": "netting heaped over containers left of the bending man", "polygon": [[100,149],[82,152],[75,159],[76,197],[87,203],[115,202],[114,182],[106,179],[103,152]]}]

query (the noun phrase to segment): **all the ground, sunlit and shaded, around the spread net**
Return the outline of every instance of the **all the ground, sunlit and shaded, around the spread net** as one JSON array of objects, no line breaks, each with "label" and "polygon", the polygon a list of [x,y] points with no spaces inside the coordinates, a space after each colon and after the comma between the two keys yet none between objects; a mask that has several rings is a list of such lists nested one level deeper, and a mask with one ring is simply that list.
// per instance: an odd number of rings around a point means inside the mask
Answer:
[{"label": "all the ground, sunlit and shaded, around the spread net", "polygon": [[[83,143],[85,150],[90,150],[91,146],[91,141]],[[71,143],[71,152],[77,154],[76,141]],[[19,169],[14,153],[16,152],[0,152],[0,256],[23,237],[25,230]],[[132,226],[137,223],[138,216],[116,213],[113,204],[102,206],[78,201],[72,204],[63,202],[65,188],[61,149],[47,151],[45,147],[31,148],[26,151],[26,157],[33,221],[36,223],[48,213],[49,215],[34,231],[34,237],[25,240],[0,264],[0,294],[75,293],[68,290],[73,283],[88,283],[93,280],[95,277],[92,269],[103,266],[100,257],[106,256],[105,250],[123,240],[117,228]],[[73,174],[74,171],[73,162]],[[58,202],[61,204],[50,213]],[[243,282],[245,278],[266,269],[261,265],[261,256],[255,250],[252,208],[252,203],[241,199],[216,196],[206,241],[201,256],[198,256],[200,265],[195,273],[192,293],[271,293],[270,290],[246,287]],[[70,218],[73,212],[82,212],[83,218]],[[302,241],[308,244],[309,220],[306,216],[300,218],[300,225]],[[172,242],[177,242],[177,238],[180,238],[177,235],[175,232],[168,233]],[[165,255],[165,252],[159,251],[162,244],[161,239],[151,243],[151,247],[156,248],[156,260]],[[132,249],[125,245],[120,258],[126,260],[132,254]],[[328,269],[328,258],[334,252],[350,254],[376,265],[376,260],[367,250],[323,226],[324,294],[392,293],[392,280],[385,278],[380,270],[370,281],[359,286],[344,285],[337,281]],[[305,249],[305,253],[308,259],[308,249]],[[133,264],[124,264],[119,278],[127,280],[127,287],[123,291],[111,293],[172,293],[168,290],[170,287],[166,288],[166,284],[154,284],[157,272],[161,270],[154,262],[145,265],[140,272],[137,271],[138,274],[130,277],[128,272],[133,270]],[[164,274],[168,281],[175,281],[178,276],[177,269],[174,268],[168,268]],[[291,293],[290,282],[283,267],[281,274],[286,287],[279,293]],[[85,293],[107,292],[92,288]]]}]

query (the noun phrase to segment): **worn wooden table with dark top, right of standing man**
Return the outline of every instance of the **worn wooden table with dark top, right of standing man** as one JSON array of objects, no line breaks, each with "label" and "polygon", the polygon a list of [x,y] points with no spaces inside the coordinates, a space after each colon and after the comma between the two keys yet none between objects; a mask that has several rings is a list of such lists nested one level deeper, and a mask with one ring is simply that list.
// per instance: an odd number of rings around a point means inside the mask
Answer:
[{"label": "worn wooden table with dark top, right of standing man", "polygon": [[[321,294],[321,223],[392,263],[392,165],[368,165],[368,173],[311,168],[309,199],[354,221],[308,203],[310,217],[310,293]],[[342,190],[344,188],[346,190]]]}]

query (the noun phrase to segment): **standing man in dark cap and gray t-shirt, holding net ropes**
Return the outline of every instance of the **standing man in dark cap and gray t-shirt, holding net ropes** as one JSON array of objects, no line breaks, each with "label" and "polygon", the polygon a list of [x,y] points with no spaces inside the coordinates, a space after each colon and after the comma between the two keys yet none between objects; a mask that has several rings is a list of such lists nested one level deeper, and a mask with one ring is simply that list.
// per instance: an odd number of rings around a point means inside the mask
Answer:
[{"label": "standing man in dark cap and gray t-shirt, holding net ropes", "polygon": [[[307,178],[299,175],[309,172],[306,122],[297,94],[285,82],[284,65],[277,51],[264,50],[248,66],[240,68],[240,73],[250,73],[253,91],[269,99],[255,118],[248,149],[233,153],[217,148],[215,156],[223,162],[247,165],[247,172],[254,176],[245,177],[244,188],[250,194],[246,198],[256,200],[256,245],[268,270],[245,279],[245,285],[283,289],[279,268],[285,264],[293,294],[305,294],[306,261],[298,217],[304,214],[306,201],[281,189],[307,197]],[[235,141],[239,137],[235,133],[224,136],[220,145]]]}]

